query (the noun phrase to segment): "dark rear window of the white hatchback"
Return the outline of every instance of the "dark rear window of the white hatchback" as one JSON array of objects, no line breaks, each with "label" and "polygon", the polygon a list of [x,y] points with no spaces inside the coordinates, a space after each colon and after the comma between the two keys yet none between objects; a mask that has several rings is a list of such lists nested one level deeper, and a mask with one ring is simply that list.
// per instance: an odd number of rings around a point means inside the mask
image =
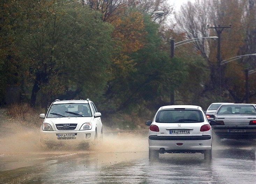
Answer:
[{"label": "dark rear window of the white hatchback", "polygon": [[156,114],[155,122],[198,123],[198,122],[204,122],[204,116],[200,110],[188,110],[188,109],[161,110]]}]

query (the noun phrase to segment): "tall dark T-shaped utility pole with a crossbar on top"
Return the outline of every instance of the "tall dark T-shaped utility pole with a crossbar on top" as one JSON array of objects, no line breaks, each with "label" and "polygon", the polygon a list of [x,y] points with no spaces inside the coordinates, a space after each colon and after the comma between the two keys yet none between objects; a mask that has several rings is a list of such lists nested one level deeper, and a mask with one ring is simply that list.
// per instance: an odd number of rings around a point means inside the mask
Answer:
[{"label": "tall dark T-shaped utility pole with a crossbar on top", "polygon": [[221,87],[222,87],[222,68],[221,68],[221,64],[220,62],[222,61],[221,60],[221,53],[220,53],[220,41],[221,41],[221,33],[224,29],[226,28],[231,28],[231,25],[229,26],[215,26],[215,27],[210,27],[209,25],[207,25],[208,29],[215,29],[216,33],[217,33],[217,36],[219,37],[218,39],[218,45],[217,45],[217,60],[218,60],[218,69],[220,71],[220,75],[219,75],[219,82],[220,82],[220,86],[219,86],[219,89],[220,89],[220,94],[221,94]]}]

